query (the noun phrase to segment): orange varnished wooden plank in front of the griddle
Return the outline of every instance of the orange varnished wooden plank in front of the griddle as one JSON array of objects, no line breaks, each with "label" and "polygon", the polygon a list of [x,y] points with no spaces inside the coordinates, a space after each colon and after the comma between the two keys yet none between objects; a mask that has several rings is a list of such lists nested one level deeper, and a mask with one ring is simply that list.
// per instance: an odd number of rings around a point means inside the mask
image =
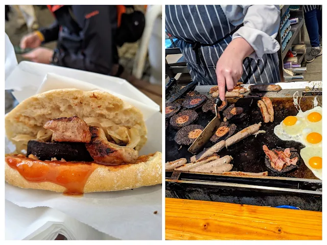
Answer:
[{"label": "orange varnished wooden plank in front of the griddle", "polygon": [[322,212],[166,198],[166,240],[321,240]]}]

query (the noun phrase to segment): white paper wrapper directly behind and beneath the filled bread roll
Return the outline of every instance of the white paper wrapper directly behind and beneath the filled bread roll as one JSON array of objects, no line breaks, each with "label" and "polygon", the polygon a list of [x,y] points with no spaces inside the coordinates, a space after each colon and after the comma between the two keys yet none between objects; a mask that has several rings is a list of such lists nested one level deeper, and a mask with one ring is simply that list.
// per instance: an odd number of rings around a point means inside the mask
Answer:
[{"label": "white paper wrapper directly behind and beneath the filled bread roll", "polygon": [[[50,74],[51,72],[68,74],[69,78]],[[81,77],[85,78],[84,82],[76,80]],[[97,83],[90,84],[85,82],[87,80]],[[125,80],[74,69],[22,62],[6,80],[6,87],[15,90],[14,95],[19,101],[37,92],[55,88],[108,91],[143,112],[148,129],[148,142],[140,154],[161,152],[159,106]],[[6,151],[11,150],[7,140]],[[80,198],[66,197],[51,191],[21,189],[7,183],[5,190],[6,200],[20,207],[51,207],[114,238],[161,239],[161,185],[125,191],[88,193]],[[154,211],[157,211],[157,214],[154,214]]]}]

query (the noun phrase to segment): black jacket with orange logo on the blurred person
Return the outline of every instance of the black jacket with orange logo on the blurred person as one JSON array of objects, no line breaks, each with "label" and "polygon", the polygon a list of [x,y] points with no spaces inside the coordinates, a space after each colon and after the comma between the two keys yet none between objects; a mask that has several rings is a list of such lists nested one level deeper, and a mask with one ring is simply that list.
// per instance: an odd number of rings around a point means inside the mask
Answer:
[{"label": "black jacket with orange logo on the blurred person", "polygon": [[114,41],[116,6],[48,6],[56,20],[40,29],[44,42],[57,41],[53,64],[110,75],[118,64]]}]

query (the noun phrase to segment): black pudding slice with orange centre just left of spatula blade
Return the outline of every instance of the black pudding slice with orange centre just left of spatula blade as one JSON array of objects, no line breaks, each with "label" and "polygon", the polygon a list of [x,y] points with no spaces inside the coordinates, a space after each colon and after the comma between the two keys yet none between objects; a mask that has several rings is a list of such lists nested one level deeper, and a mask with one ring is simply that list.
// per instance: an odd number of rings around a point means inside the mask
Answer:
[{"label": "black pudding slice with orange centre just left of spatula blade", "polygon": [[203,127],[201,125],[189,125],[180,129],[175,135],[177,144],[190,145],[202,133]]}]

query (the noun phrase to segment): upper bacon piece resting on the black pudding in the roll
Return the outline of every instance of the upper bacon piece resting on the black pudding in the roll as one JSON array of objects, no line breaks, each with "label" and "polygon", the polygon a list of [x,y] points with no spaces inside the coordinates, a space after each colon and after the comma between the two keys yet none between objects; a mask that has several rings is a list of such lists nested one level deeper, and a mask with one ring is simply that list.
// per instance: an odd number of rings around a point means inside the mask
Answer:
[{"label": "upper bacon piece resting on the black pudding in the roll", "polygon": [[47,121],[43,128],[53,132],[54,141],[88,143],[91,140],[86,122],[77,116],[52,119]]}]

